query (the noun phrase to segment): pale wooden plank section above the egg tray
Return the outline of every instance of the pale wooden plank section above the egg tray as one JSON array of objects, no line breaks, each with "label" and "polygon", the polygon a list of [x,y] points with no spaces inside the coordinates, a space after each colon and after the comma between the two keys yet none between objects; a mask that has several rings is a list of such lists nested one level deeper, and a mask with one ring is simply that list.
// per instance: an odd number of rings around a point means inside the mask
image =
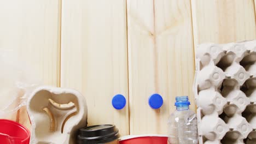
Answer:
[{"label": "pale wooden plank section above the egg tray", "polygon": [[194,44],[256,38],[252,0],[192,0]]}]

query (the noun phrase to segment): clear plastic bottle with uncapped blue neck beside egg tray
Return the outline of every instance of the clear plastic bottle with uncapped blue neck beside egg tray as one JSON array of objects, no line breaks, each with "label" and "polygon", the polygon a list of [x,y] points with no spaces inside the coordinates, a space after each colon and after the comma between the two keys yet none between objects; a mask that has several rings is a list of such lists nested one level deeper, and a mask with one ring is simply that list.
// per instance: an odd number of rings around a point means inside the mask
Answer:
[{"label": "clear plastic bottle with uncapped blue neck beside egg tray", "polygon": [[168,119],[170,144],[198,143],[197,118],[189,105],[188,96],[176,97],[176,111]]}]

